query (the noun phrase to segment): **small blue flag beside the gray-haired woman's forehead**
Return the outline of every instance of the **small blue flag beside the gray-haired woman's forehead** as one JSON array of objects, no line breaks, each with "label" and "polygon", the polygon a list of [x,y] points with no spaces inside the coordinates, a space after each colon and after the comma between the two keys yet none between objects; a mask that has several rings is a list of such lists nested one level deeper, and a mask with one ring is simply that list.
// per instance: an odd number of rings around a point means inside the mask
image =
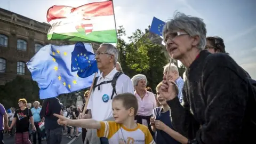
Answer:
[{"label": "small blue flag beside the gray-haired woman's forehead", "polygon": [[164,25],[165,25],[164,21],[159,20],[156,17],[154,17],[149,31],[151,33],[157,34],[159,36],[163,36],[162,31],[163,31]]}]

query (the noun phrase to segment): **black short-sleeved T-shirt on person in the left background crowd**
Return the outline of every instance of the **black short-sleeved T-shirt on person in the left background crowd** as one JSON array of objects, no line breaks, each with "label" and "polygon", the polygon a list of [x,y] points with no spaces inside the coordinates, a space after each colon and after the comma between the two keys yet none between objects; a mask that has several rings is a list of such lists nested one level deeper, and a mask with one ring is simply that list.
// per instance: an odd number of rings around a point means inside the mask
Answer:
[{"label": "black short-sleeved T-shirt on person in the left background crowd", "polygon": [[29,131],[29,118],[32,116],[32,112],[28,108],[25,110],[18,109],[15,111],[14,118],[17,118],[16,133]]}]

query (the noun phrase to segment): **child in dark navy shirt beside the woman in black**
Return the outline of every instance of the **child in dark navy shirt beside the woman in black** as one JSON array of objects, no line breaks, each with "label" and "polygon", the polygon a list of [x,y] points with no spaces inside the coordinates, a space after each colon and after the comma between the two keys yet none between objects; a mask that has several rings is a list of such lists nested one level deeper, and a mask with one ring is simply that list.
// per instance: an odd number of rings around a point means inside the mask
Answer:
[{"label": "child in dark navy shirt beside the woman in black", "polygon": [[[179,89],[177,85],[171,81],[173,84],[172,93],[177,95],[179,93]],[[185,138],[180,133],[173,130],[172,122],[171,122],[171,113],[170,108],[166,103],[166,99],[161,94],[160,87],[162,82],[156,86],[157,92],[157,100],[159,101],[161,107],[157,107],[153,110],[153,117],[150,118],[151,129],[155,132],[155,142],[156,143],[188,143],[188,139]]]}]

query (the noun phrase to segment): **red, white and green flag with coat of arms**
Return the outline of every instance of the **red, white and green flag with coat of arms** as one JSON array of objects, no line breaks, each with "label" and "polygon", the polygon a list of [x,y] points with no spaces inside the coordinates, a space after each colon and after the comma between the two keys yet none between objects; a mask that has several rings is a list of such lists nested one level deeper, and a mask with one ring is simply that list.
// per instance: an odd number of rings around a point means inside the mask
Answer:
[{"label": "red, white and green flag with coat of arms", "polygon": [[79,7],[52,6],[47,11],[49,40],[117,43],[112,1]]}]

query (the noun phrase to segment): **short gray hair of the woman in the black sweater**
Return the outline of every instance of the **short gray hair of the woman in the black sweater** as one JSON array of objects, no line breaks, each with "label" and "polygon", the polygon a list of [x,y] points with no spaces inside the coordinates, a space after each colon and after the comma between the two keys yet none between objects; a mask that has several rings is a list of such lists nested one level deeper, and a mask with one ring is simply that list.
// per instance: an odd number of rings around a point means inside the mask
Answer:
[{"label": "short gray hair of the woman in the black sweater", "polygon": [[191,17],[181,12],[175,12],[173,19],[167,21],[163,27],[163,36],[169,31],[184,30],[190,36],[199,36],[198,49],[203,50],[206,45],[206,26],[203,19]]}]

